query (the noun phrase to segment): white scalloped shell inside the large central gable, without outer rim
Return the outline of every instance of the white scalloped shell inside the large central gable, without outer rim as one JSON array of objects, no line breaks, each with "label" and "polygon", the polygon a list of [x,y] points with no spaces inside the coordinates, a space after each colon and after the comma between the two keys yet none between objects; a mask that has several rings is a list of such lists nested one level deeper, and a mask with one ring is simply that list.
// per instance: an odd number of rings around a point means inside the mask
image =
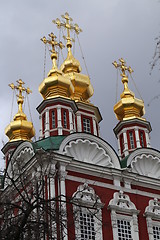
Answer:
[{"label": "white scalloped shell inside the large central gable, without outer rim", "polygon": [[114,167],[110,156],[97,143],[89,140],[77,139],[66,145],[64,154],[75,160],[96,164],[100,166]]}]

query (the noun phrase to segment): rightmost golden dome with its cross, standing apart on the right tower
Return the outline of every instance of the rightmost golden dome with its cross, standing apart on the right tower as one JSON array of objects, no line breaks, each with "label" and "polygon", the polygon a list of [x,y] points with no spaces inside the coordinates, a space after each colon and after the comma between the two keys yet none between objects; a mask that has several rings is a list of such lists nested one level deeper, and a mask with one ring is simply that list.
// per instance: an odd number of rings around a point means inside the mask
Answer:
[{"label": "rightmost golden dome with its cross, standing apart on the right tower", "polygon": [[[113,63],[116,68],[120,68],[122,74],[122,83],[124,90],[121,94],[121,100],[114,105],[114,112],[118,120],[127,120],[133,118],[142,118],[145,114],[144,102],[141,99],[135,98],[134,93],[128,88],[128,77],[125,71],[133,72],[131,67],[125,66],[125,61],[121,58],[120,64]],[[144,118],[143,118],[144,119]]]}]

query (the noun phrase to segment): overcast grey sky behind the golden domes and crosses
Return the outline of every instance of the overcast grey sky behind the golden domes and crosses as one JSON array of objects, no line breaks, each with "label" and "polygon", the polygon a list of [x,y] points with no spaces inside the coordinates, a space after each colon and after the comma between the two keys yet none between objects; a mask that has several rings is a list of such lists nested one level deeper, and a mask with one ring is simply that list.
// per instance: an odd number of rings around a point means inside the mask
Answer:
[{"label": "overcast grey sky behind the golden domes and crosses", "polygon": [[[101,136],[117,150],[113,128],[117,124],[113,112],[116,99],[117,72],[112,62],[123,57],[134,69],[133,79],[144,102],[145,118],[151,122],[151,145],[160,149],[160,71],[149,75],[156,42],[160,34],[160,2],[158,0],[7,0],[0,3],[0,148],[7,142],[5,127],[10,122],[12,90],[8,84],[22,78],[33,93],[29,96],[33,123],[38,140],[39,121],[36,107],[42,101],[38,86],[44,74],[44,46],[40,38],[54,32],[59,35],[53,19],[68,12],[74,23],[83,29],[79,35],[94,96],[91,102],[99,107],[103,121]],[[86,73],[78,47],[76,57]],[[66,57],[66,51],[64,50]],[[47,53],[46,74],[50,69]],[[122,83],[118,83],[118,99]],[[129,87],[138,93],[129,81]],[[17,112],[16,102],[13,115]],[[27,108],[26,111],[28,112]],[[28,116],[30,120],[30,117]],[[2,156],[2,155],[0,155]],[[2,158],[2,157],[1,157]],[[0,166],[3,160],[0,160]]]}]

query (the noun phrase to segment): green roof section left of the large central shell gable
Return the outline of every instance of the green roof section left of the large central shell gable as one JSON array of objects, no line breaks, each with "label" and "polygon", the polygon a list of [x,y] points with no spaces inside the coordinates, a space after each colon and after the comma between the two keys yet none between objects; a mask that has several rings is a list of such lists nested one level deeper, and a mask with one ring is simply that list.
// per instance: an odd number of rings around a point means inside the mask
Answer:
[{"label": "green roof section left of the large central shell gable", "polygon": [[34,151],[37,149],[44,149],[44,150],[58,150],[61,142],[66,136],[53,136],[53,137],[48,137],[44,138],[42,140],[39,140],[37,142],[32,142]]}]

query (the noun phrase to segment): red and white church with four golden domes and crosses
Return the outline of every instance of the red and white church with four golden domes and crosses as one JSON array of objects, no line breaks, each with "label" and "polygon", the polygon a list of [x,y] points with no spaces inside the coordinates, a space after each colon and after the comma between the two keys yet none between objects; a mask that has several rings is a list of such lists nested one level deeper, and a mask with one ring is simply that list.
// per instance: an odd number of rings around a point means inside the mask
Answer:
[{"label": "red and white church with four golden domes and crosses", "polygon": [[[19,165],[32,182],[41,172],[37,167],[41,162],[45,199],[59,196],[66,215],[61,219],[63,226],[56,226],[52,236],[30,239],[160,239],[160,152],[151,147],[144,102],[129,89],[132,69],[122,58],[113,62],[124,86],[114,106],[117,151],[100,136],[102,116],[90,101],[92,84],[72,53],[70,34],[79,34],[81,29],[67,13],[62,18],[54,21],[67,31],[68,54],[60,68],[56,47],[62,49],[63,44],[53,33],[41,39],[51,47],[52,68],[39,85],[42,102],[37,107],[40,126],[36,142],[32,141],[33,124],[23,112],[23,93],[31,90],[22,80],[10,84],[18,91],[18,113],[5,129],[9,140],[2,149],[6,160],[2,194],[9,194],[11,180],[16,181],[22,173]],[[7,178],[11,175],[12,179]],[[71,199],[72,214],[66,199]]]}]

